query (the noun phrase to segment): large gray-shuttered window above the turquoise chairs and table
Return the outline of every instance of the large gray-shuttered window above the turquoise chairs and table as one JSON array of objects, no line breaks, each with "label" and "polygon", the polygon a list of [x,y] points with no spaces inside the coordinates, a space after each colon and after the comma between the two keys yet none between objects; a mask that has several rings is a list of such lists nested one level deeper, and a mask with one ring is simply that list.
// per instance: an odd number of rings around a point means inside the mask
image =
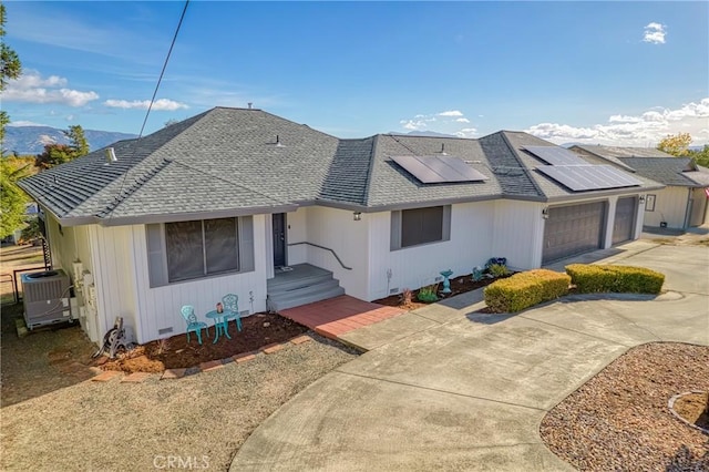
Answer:
[{"label": "large gray-shuttered window above the turquoise chairs and table", "polygon": [[253,218],[146,225],[151,287],[254,270]]}]

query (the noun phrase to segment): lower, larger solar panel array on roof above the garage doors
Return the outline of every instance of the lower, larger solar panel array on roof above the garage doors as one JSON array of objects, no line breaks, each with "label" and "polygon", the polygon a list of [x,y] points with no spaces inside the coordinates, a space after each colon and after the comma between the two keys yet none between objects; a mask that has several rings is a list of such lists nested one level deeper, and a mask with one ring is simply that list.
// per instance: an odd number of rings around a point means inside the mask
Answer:
[{"label": "lower, larger solar panel array on roof above the garage doors", "polygon": [[541,165],[537,171],[574,192],[633,187],[643,184],[610,165]]}]

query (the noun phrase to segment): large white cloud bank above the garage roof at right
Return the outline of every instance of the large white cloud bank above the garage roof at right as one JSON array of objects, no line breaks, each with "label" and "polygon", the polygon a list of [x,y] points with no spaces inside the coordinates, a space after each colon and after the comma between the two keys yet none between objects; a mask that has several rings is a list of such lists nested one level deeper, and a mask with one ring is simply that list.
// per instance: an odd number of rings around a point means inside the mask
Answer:
[{"label": "large white cloud bank above the garage roof at right", "polygon": [[540,123],[525,130],[535,136],[556,144],[577,142],[619,146],[654,146],[668,134],[689,133],[692,144],[709,142],[703,132],[709,119],[709,98],[670,109],[653,109],[637,116],[612,115],[606,124],[573,126],[558,123]]}]

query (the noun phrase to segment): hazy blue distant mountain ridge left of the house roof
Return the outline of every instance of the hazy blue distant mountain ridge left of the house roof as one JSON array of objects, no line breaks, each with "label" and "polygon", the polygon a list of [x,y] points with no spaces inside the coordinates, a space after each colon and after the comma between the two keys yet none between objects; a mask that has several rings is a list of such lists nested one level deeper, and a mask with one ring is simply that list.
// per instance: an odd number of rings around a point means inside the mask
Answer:
[{"label": "hazy blue distant mountain ridge left of the house roof", "polygon": [[[6,126],[2,148],[8,153],[40,154],[45,144],[69,144],[63,130],[51,126]],[[135,134],[112,131],[84,130],[91,151],[113,144],[116,141],[137,137]]]}]

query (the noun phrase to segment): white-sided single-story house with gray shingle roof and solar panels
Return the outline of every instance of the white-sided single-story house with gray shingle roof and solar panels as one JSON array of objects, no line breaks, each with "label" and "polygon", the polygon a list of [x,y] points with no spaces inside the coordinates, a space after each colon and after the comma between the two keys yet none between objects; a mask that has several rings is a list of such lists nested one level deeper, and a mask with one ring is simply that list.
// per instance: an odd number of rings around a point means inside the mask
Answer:
[{"label": "white-sided single-story house with gray shingle roof and solar panels", "polygon": [[340,140],[226,107],[20,186],[91,339],[122,316],[138,342],[184,332],[182,305],[205,314],[227,293],[244,315],[374,300],[492,256],[530,269],[610,247],[639,236],[640,198],[662,187],[521,132]]}]

